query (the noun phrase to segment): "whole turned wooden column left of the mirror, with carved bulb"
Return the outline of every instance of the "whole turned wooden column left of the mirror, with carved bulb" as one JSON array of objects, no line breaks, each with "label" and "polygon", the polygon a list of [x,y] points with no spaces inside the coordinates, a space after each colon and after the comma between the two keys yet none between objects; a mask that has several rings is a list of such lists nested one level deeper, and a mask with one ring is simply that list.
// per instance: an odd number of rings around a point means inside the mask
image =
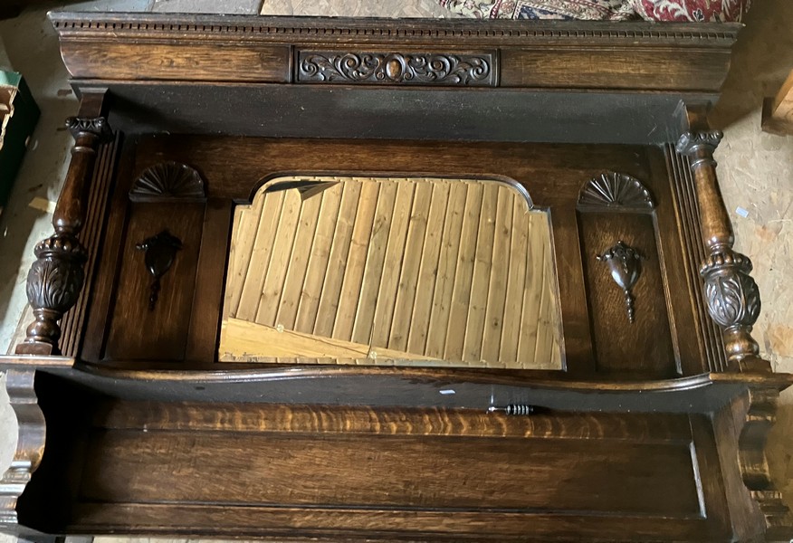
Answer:
[{"label": "whole turned wooden column left of the mirror, with carved bulb", "polygon": [[111,132],[107,119],[100,116],[71,117],[66,127],[74,138],[72,162],[53,214],[55,233],[34,249],[36,261],[27,275],[27,299],[35,319],[24,342],[16,346],[17,354],[60,354],[59,321],[76,303],[85,278],[88,254],[77,236],[85,223],[97,148]]}]

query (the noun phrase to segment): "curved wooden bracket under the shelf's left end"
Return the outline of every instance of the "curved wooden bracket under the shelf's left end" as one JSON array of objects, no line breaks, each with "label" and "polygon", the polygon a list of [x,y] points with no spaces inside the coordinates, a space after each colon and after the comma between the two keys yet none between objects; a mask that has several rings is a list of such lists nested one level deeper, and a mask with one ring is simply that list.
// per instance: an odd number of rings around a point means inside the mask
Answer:
[{"label": "curved wooden bracket under the shelf's left end", "polygon": [[0,479],[0,529],[16,532],[16,500],[22,495],[44,452],[44,415],[33,390],[36,370],[9,369],[5,374],[5,390],[14,409],[18,441],[14,460]]}]

